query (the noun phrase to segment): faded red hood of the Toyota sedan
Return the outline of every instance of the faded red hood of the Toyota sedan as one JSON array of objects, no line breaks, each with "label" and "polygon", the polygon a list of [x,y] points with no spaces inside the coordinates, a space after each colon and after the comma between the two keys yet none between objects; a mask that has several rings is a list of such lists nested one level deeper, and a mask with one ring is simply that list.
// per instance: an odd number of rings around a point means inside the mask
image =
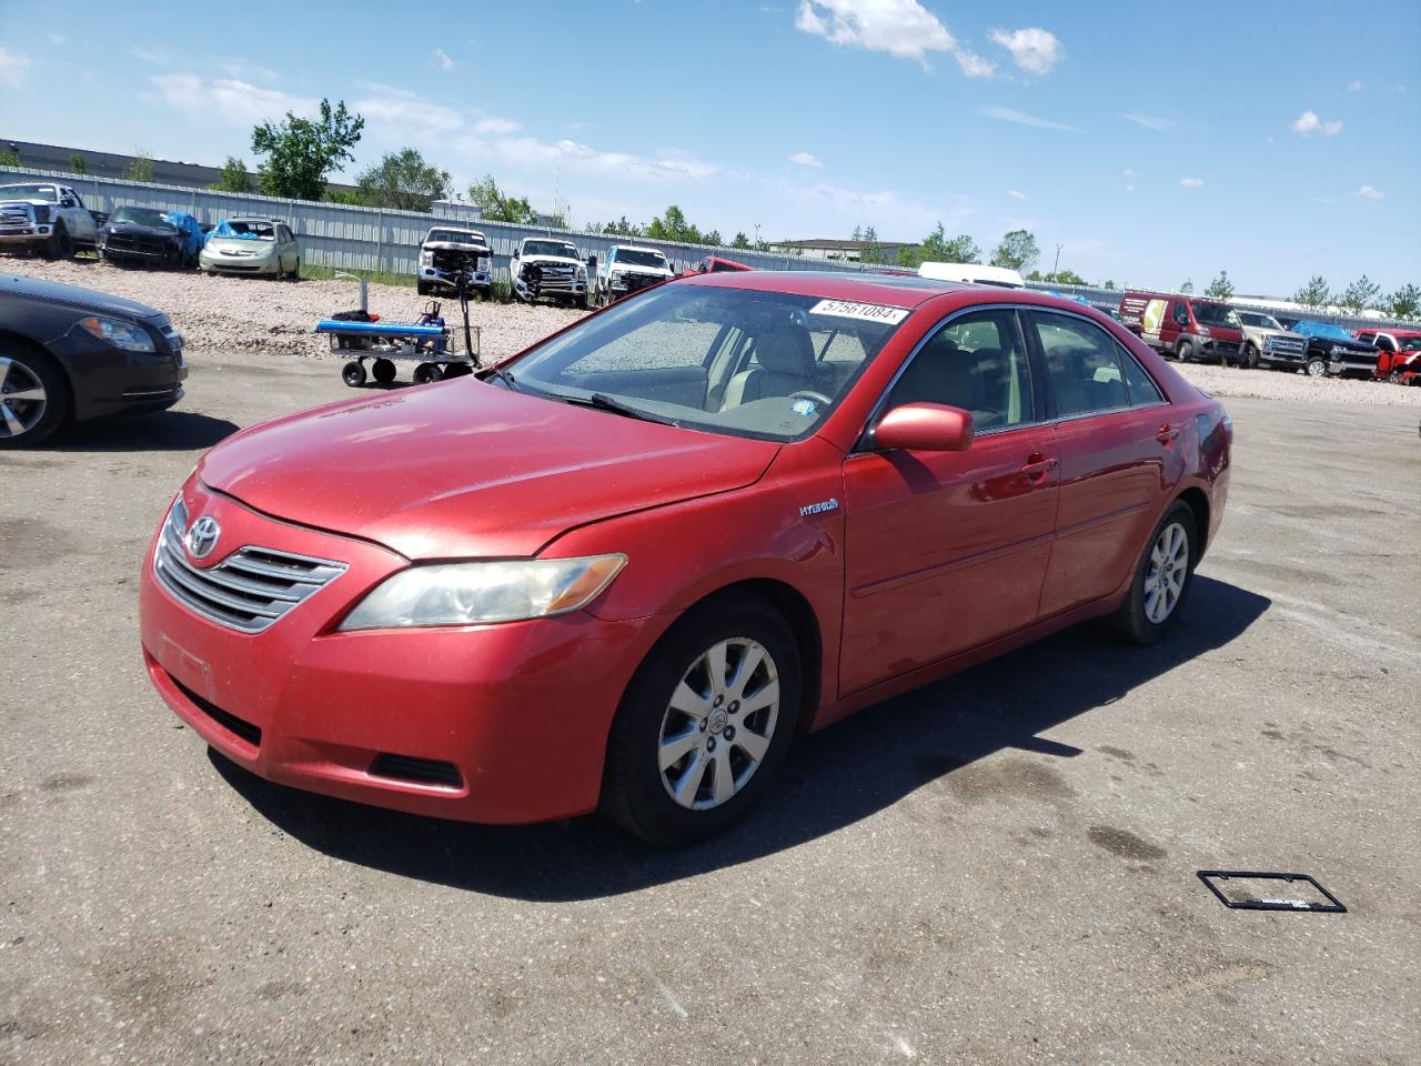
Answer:
[{"label": "faded red hood of the Toyota sedan", "polygon": [[253,426],[198,473],[256,510],[408,559],[510,557],[574,526],[750,485],[779,448],[466,377]]}]

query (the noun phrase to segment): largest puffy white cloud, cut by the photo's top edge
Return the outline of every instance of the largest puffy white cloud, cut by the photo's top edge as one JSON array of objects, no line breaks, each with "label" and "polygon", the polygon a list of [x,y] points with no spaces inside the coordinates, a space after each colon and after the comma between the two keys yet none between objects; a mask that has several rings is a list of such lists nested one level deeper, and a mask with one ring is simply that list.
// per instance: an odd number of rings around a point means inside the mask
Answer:
[{"label": "largest puffy white cloud, cut by the photo's top edge", "polygon": [[917,60],[925,70],[931,70],[928,53],[935,51],[952,55],[969,78],[989,77],[996,70],[958,43],[918,0],[800,0],[794,28],[831,44]]}]

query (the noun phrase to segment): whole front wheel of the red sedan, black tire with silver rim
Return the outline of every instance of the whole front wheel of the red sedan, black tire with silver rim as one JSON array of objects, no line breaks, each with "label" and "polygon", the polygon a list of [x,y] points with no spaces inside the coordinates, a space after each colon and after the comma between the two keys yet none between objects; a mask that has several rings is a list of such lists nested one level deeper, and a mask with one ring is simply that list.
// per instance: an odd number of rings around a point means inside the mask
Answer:
[{"label": "whole front wheel of the red sedan, black tire with silver rim", "polygon": [[[716,650],[723,671],[713,681]],[[742,677],[750,655],[756,665]],[[779,611],[740,594],[693,608],[627,687],[607,742],[603,813],[662,847],[719,833],[770,787],[794,739],[800,691],[799,645]]]}]

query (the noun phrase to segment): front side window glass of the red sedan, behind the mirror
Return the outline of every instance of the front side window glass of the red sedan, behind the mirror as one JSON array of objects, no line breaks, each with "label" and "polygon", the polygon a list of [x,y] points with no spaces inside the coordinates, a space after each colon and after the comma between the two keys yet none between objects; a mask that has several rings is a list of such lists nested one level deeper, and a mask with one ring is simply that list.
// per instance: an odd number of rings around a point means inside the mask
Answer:
[{"label": "front side window glass of the red sedan, behind the mirror", "polygon": [[894,382],[884,411],[904,404],[971,411],[978,432],[1036,421],[1016,313],[973,311],[938,330]]}]

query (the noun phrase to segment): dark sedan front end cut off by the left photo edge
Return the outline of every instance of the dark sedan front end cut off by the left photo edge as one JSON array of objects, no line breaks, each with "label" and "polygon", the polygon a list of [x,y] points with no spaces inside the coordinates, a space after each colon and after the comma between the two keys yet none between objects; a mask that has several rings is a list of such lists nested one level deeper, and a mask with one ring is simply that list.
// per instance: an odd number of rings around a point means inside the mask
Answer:
[{"label": "dark sedan front end cut off by the left photo edge", "polygon": [[182,334],[152,307],[0,274],[0,448],[68,421],[162,411],[182,399]]}]

